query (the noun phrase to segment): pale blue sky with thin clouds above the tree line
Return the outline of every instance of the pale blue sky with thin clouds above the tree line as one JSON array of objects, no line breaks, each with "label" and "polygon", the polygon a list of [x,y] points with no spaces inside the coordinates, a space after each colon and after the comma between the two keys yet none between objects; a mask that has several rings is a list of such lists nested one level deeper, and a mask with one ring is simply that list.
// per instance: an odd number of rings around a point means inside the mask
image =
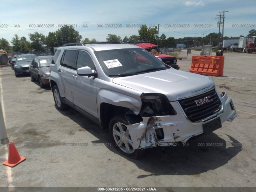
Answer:
[{"label": "pale blue sky with thin clouds above the tree line", "polygon": [[[3,1],[3,0],[1,0]],[[142,24],[158,26],[159,36],[183,38],[218,33],[225,12],[224,36],[246,36],[256,30],[255,0],[8,0],[1,9],[0,38],[10,41],[39,32],[48,35],[62,25],[74,26],[84,38],[106,41],[138,35]],[[222,13],[223,14],[223,13]],[[222,29],[221,29],[222,31]],[[12,45],[10,43],[10,45]]]}]

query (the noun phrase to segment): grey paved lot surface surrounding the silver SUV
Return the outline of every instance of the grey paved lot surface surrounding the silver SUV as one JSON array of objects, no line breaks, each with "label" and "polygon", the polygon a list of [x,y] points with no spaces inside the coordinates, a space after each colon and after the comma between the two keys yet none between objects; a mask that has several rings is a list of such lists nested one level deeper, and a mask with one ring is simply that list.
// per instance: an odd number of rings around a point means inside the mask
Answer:
[{"label": "grey paved lot surface surrounding the silver SUV", "polygon": [[[189,71],[198,54],[192,53],[178,60],[180,70]],[[256,53],[224,56],[224,76],[213,79],[232,98],[237,118],[187,146],[148,149],[140,160],[119,154],[108,132],[76,110],[58,111],[50,88],[30,76],[15,78],[4,66],[0,100],[8,138],[26,160],[2,165],[0,186],[256,186]],[[8,146],[0,148],[4,162]]]}]

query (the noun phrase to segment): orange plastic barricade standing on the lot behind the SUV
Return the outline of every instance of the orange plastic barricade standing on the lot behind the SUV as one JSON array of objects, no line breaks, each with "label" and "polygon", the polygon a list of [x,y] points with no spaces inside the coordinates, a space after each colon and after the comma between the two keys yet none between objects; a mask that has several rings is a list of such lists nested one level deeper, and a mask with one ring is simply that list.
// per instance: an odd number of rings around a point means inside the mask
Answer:
[{"label": "orange plastic barricade standing on the lot behind the SUV", "polygon": [[189,72],[208,75],[223,76],[224,56],[192,56]]}]

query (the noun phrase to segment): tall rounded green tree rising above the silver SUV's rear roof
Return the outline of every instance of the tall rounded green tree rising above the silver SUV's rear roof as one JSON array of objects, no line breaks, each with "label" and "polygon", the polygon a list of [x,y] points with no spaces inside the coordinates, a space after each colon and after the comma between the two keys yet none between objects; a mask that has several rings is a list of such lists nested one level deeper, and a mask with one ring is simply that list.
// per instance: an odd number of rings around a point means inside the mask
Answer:
[{"label": "tall rounded green tree rising above the silver SUV's rear roof", "polygon": [[82,36],[73,26],[64,25],[56,31],[56,40],[58,46],[62,46],[66,43],[80,42]]}]

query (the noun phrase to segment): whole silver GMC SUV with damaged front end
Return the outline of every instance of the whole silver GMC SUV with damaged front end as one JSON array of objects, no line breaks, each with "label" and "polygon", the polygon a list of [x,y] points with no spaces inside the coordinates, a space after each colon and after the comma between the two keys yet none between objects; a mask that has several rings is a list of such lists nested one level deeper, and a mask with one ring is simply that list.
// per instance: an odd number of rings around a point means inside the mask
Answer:
[{"label": "whole silver GMC SUV with damaged front end", "polygon": [[231,98],[211,78],[171,68],[131,44],[58,48],[50,85],[59,110],[71,106],[109,129],[116,149],[130,158],[184,144],[236,118]]}]

